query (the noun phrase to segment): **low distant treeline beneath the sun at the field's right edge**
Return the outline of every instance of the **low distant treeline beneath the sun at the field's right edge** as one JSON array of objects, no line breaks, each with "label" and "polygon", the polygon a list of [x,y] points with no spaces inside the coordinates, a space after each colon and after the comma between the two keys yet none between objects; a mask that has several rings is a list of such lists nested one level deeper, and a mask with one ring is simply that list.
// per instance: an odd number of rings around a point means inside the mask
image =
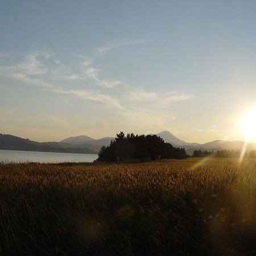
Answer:
[{"label": "low distant treeline beneath the sun at the field's right edge", "polygon": [[[207,151],[207,150],[195,150],[193,152],[193,158],[204,158],[205,156],[212,156],[215,158],[239,158],[241,155],[241,151],[235,150],[217,150]],[[256,150],[245,152],[244,158],[256,158]]]}]

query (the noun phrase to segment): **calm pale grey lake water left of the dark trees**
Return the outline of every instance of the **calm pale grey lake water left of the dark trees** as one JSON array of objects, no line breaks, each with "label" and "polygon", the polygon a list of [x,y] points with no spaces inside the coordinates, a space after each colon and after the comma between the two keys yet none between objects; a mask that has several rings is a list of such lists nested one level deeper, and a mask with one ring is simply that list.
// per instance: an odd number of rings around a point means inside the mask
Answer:
[{"label": "calm pale grey lake water left of the dark trees", "polygon": [[69,154],[35,151],[0,150],[0,162],[37,162],[37,163],[61,163],[61,162],[92,162],[98,155]]}]

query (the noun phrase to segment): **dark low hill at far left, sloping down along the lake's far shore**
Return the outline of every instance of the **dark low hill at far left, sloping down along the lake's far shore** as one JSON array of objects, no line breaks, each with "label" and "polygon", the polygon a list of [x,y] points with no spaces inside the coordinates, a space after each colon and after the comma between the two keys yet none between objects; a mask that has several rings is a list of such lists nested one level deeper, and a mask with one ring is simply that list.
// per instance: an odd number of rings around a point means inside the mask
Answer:
[{"label": "dark low hill at far left, sloping down along the lake's far shore", "polygon": [[0,150],[24,150],[39,152],[60,152],[78,154],[97,154],[90,148],[63,147],[58,142],[36,142],[30,139],[16,137],[10,134],[0,134]]}]

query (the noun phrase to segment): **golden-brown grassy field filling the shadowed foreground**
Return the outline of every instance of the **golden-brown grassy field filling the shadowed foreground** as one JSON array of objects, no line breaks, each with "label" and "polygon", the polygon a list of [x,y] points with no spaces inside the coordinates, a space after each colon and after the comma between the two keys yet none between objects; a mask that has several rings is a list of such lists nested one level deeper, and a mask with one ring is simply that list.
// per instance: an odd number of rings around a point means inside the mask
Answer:
[{"label": "golden-brown grassy field filling the shadowed foreground", "polygon": [[256,255],[256,163],[0,164],[0,255]]}]

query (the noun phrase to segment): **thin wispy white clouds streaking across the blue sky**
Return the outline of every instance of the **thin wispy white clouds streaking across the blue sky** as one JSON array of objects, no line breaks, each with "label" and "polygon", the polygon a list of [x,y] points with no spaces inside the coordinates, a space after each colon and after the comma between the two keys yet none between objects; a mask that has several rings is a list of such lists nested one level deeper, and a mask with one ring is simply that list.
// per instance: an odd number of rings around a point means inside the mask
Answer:
[{"label": "thin wispy white clouds streaking across the blue sky", "polygon": [[[98,53],[106,53],[114,47],[140,44],[153,39],[137,40],[98,48]],[[51,51],[34,51],[24,56],[19,63],[0,65],[0,75],[15,79],[38,89],[63,95],[63,102],[76,105],[74,98],[88,102],[86,106],[96,106],[117,115],[120,125],[138,126],[144,130],[160,130],[174,120],[172,105],[194,98],[191,93],[163,91],[133,86],[126,81],[104,77],[104,69],[98,58],[81,55],[72,63],[59,60]],[[98,85],[98,86],[96,86]],[[67,98],[65,98],[67,97]],[[68,99],[68,100],[67,100]],[[49,117],[51,119],[51,117]],[[56,122],[58,122],[56,120]],[[59,120],[59,123],[63,121]]]}]

